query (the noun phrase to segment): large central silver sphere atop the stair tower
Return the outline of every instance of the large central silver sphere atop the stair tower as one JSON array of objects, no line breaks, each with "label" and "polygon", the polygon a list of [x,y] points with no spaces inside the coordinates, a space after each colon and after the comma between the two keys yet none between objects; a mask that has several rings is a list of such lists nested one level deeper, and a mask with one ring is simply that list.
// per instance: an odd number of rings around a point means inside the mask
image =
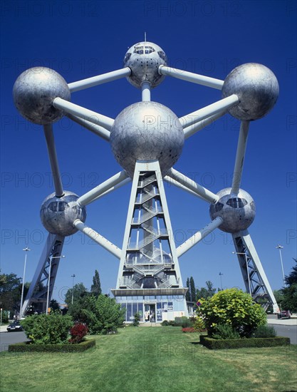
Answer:
[{"label": "large central silver sphere atop the stair tower", "polygon": [[159,160],[164,176],[182,153],[184,131],[177,116],[166,106],[139,102],[115,118],[110,145],[115,159],[130,177],[136,160]]}]

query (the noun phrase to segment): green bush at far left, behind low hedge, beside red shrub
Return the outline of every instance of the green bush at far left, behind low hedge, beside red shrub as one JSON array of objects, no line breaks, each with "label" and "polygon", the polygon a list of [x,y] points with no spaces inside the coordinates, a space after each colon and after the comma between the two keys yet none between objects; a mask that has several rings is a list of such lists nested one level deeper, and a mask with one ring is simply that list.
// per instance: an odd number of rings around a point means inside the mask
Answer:
[{"label": "green bush at far left, behind low hedge, beside red shrub", "polygon": [[33,344],[62,344],[68,342],[73,321],[71,316],[52,311],[51,314],[28,316],[21,320],[21,325]]}]

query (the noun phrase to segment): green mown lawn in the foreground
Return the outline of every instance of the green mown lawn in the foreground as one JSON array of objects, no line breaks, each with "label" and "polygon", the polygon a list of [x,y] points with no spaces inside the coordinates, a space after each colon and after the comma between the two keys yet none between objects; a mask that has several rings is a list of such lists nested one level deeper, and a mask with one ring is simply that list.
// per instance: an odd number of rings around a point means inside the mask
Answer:
[{"label": "green mown lawn in the foreground", "polygon": [[171,326],[96,336],[84,353],[0,354],[7,391],[297,391],[297,346],[211,351]]}]

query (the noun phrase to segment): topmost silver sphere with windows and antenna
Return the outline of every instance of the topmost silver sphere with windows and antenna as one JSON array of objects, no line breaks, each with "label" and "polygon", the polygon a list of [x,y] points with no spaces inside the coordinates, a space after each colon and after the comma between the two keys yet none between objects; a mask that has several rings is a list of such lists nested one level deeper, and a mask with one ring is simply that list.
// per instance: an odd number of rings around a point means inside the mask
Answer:
[{"label": "topmost silver sphere with windows and antenna", "polygon": [[167,65],[167,57],[162,48],[152,42],[135,43],[124,58],[124,66],[131,69],[127,80],[137,88],[141,88],[146,81],[152,88],[158,86],[165,78],[158,72],[161,65]]}]

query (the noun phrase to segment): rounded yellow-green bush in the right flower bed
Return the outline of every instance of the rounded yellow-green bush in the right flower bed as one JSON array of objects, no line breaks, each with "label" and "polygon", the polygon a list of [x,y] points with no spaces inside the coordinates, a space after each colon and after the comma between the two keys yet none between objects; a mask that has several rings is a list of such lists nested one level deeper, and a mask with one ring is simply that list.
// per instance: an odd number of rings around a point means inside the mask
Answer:
[{"label": "rounded yellow-green bush in the right flower bed", "polygon": [[266,313],[251,296],[239,289],[226,289],[209,299],[199,299],[197,315],[202,317],[209,336],[217,324],[229,324],[241,337],[249,337],[260,325],[266,324]]}]

